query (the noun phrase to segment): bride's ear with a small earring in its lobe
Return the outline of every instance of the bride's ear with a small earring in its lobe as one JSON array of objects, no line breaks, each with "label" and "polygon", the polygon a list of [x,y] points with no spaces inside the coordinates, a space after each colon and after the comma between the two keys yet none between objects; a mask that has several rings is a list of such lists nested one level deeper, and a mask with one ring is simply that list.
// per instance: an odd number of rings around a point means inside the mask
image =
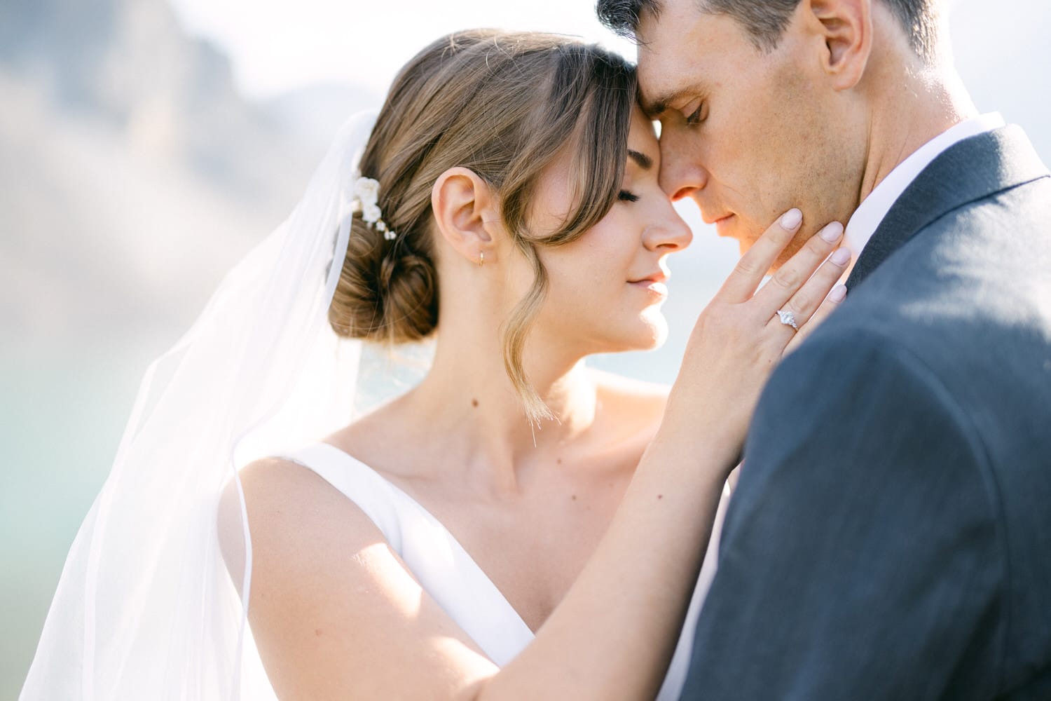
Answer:
[{"label": "bride's ear with a small earring in its lobe", "polygon": [[495,262],[493,234],[500,226],[498,201],[489,184],[469,168],[450,168],[431,189],[438,231],[471,263]]}]

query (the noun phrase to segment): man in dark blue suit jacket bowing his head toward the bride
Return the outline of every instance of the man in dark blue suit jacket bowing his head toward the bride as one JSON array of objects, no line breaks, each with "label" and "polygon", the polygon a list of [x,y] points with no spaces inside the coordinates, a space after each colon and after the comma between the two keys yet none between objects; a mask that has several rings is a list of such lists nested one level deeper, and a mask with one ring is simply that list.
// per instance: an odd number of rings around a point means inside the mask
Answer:
[{"label": "man in dark blue suit jacket bowing his head toward the bride", "polygon": [[974,109],[946,2],[598,12],[666,191],[742,250],[848,222],[857,259],[760,400],[683,698],[1051,699],[1051,178]]}]

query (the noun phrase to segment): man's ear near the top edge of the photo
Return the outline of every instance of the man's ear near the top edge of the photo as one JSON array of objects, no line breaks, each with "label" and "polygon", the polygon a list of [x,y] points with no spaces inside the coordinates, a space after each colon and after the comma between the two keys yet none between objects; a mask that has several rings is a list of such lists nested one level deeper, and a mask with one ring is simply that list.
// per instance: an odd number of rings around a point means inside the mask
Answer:
[{"label": "man's ear near the top edge of the photo", "polygon": [[821,67],[837,90],[861,81],[872,51],[872,3],[878,0],[803,0],[811,26],[824,39]]}]

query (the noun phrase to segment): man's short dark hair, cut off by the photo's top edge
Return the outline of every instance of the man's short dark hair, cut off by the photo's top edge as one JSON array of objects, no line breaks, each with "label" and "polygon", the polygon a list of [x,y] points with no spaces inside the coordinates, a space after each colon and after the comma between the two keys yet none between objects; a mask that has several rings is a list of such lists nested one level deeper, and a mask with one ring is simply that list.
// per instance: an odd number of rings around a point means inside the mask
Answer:
[{"label": "man's short dark hair, cut off by the photo's top edge", "polygon": [[[733,17],[748,32],[760,50],[777,48],[799,0],[695,0],[698,9]],[[925,61],[936,54],[939,0],[880,0],[898,18],[912,50]],[[660,0],[598,0],[595,11],[607,27],[634,37],[644,15],[660,15]]]}]

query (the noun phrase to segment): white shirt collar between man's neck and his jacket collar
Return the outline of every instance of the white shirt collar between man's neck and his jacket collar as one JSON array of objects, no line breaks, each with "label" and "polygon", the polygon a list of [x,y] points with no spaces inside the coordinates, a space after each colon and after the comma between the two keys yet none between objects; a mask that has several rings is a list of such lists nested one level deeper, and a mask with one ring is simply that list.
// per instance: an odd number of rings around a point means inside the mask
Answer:
[{"label": "white shirt collar between man's neck and his jacket collar", "polygon": [[844,242],[850,247],[853,260],[857,261],[862,250],[868,245],[869,239],[875,233],[880,222],[890,211],[890,207],[902,197],[905,189],[915,180],[916,176],[930,165],[942,151],[953,144],[976,137],[986,131],[992,131],[1004,126],[1004,118],[1000,112],[989,112],[981,117],[972,117],[960,124],[949,127],[926,144],[918,148],[911,156],[902,161],[872,189],[850,221],[847,222]]}]

